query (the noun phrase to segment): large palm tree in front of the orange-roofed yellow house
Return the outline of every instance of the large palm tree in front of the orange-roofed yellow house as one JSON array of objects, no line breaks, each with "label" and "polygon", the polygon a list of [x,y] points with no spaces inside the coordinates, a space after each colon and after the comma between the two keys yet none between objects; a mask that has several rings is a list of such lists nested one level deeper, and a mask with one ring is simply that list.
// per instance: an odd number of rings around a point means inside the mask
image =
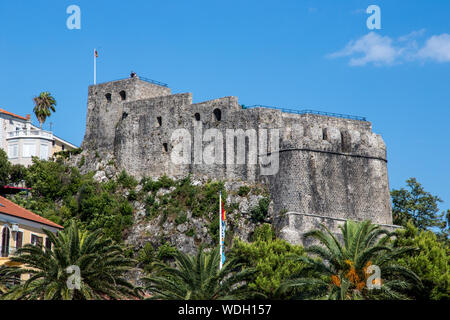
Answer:
[{"label": "large palm tree in front of the orange-roofed yellow house", "polygon": [[[58,236],[44,230],[53,249],[26,245],[11,257],[22,267],[9,267],[9,275],[29,274],[29,279],[3,299],[85,300],[139,297],[124,279],[134,261],[100,230],[80,231],[75,222]],[[70,268],[69,268],[70,267]],[[68,269],[69,268],[69,269]],[[74,271],[79,268],[79,283]]]}]

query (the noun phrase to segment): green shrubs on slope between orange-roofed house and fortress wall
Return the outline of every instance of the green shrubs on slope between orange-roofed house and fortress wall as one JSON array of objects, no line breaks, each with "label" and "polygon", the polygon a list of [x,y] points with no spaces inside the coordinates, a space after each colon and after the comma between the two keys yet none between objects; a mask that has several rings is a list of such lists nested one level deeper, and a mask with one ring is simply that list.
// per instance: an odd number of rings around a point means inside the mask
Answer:
[{"label": "green shrubs on slope between orange-roofed house and fortress wall", "polygon": [[33,159],[25,172],[31,197],[12,198],[19,205],[63,226],[72,219],[87,230],[102,229],[106,236],[122,241],[122,232],[132,224],[133,207],[124,195],[132,178],[121,174],[117,181],[99,183],[93,174],[82,175],[61,160]]}]

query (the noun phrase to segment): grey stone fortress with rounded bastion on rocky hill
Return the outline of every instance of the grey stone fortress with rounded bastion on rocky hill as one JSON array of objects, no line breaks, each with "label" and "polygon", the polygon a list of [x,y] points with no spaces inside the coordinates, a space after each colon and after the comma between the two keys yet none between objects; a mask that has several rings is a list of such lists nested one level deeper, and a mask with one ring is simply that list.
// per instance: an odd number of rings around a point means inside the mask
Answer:
[{"label": "grey stone fortress with rounded bastion on rocky hill", "polygon": [[[258,134],[278,129],[276,174],[262,174],[262,155],[257,164],[227,161],[243,152],[233,147],[235,154],[225,154],[228,140],[219,144],[223,163],[199,162],[194,153],[190,164],[171,161],[174,130],[187,129],[193,139],[195,130],[211,128],[224,137],[227,129],[254,129]],[[271,154],[273,142],[268,140],[258,144],[267,143]],[[248,159],[254,141],[244,141]],[[192,141],[192,148],[208,144]],[[274,202],[274,226],[293,243],[302,243],[302,234],[319,223],[336,230],[346,219],[370,219],[394,227],[386,147],[364,118],[245,108],[236,97],[192,103],[191,93],[171,94],[164,84],[132,76],[89,87],[82,148],[88,155],[114,159],[119,169],[137,178],[192,174],[263,183]]]}]

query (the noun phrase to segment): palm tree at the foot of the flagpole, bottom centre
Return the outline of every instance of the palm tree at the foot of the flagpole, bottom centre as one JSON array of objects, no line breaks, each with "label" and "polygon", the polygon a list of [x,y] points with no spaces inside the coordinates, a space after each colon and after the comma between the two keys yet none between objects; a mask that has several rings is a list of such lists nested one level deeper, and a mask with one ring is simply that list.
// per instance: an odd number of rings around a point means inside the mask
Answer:
[{"label": "palm tree at the foot of the flagpole, bottom centre", "polygon": [[194,256],[176,251],[172,254],[175,266],[155,262],[156,271],[144,278],[150,299],[164,300],[216,300],[246,297],[245,279],[252,269],[241,270],[236,260],[227,261],[219,270],[218,249],[206,252],[199,248]]}]

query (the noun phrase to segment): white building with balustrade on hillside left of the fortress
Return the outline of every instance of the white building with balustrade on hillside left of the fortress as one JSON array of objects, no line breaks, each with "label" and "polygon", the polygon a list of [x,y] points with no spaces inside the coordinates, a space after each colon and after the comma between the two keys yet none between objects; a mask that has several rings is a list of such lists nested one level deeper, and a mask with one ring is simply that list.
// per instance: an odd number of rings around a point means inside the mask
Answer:
[{"label": "white building with balustrade on hillside left of the fortress", "polygon": [[29,114],[24,118],[0,109],[0,148],[6,151],[12,164],[29,166],[32,157],[47,160],[58,151],[77,146],[39,129],[31,123]]}]

